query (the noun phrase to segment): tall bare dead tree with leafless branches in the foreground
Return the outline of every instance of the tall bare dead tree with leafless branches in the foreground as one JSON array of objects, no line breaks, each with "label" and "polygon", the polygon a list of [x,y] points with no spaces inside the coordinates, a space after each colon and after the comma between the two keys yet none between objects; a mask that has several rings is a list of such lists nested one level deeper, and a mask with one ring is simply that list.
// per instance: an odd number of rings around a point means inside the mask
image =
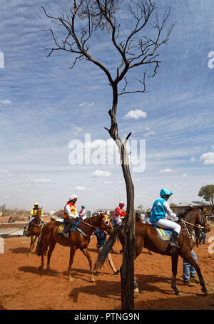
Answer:
[{"label": "tall bare dead tree with leafless branches in the foreground", "polygon": [[[135,246],[135,215],[134,215],[134,186],[131,178],[129,156],[126,147],[131,132],[128,133],[126,140],[121,140],[118,135],[118,123],[116,119],[119,95],[128,93],[145,93],[146,78],[154,77],[161,61],[158,59],[158,48],[168,42],[173,23],[169,23],[170,10],[165,11],[161,21],[158,19],[156,4],[151,0],[74,0],[73,6],[68,14],[54,17],[44,13],[58,26],[63,27],[66,32],[62,41],[58,40],[56,31],[49,29],[54,40],[54,46],[46,48],[49,51],[48,57],[54,51],[67,51],[73,54],[73,66],[83,59],[90,61],[95,66],[103,70],[108,78],[108,83],[112,90],[112,106],[108,111],[111,117],[111,127],[107,128],[109,135],[118,146],[121,155],[121,166],[123,177],[126,182],[127,195],[127,218],[125,225],[126,243],[123,251],[123,264],[121,266],[121,294],[122,309],[134,309],[133,302],[133,278],[134,278],[134,246]],[[121,39],[121,23],[118,21],[118,13],[123,9],[129,14],[131,19],[131,29],[128,31],[126,39]],[[81,23],[81,28],[78,28]],[[143,34],[148,23],[151,27]],[[88,41],[96,31],[101,30],[111,37],[111,45],[118,53],[120,60],[115,70],[115,75],[100,61],[93,58],[89,51]],[[151,35],[151,36],[150,36]],[[151,75],[147,75],[146,70],[141,72],[143,78],[138,80],[141,88],[128,90],[128,72],[133,68],[141,66],[152,66]],[[140,71],[140,70],[139,70]],[[140,74],[140,73],[139,73]],[[121,90],[118,85],[121,83]],[[120,86],[121,86],[120,85]]]}]

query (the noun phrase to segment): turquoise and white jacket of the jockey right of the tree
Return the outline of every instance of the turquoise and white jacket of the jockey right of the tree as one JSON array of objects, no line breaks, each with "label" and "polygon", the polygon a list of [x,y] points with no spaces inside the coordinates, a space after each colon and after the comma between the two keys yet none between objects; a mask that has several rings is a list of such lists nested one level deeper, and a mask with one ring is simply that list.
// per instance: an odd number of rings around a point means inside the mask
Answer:
[{"label": "turquoise and white jacket of the jockey right of the tree", "polygon": [[168,216],[168,219],[172,221],[178,221],[178,217],[173,213],[172,209],[165,198],[159,198],[153,203],[153,207],[150,213],[150,221],[154,223],[159,219],[165,219]]}]

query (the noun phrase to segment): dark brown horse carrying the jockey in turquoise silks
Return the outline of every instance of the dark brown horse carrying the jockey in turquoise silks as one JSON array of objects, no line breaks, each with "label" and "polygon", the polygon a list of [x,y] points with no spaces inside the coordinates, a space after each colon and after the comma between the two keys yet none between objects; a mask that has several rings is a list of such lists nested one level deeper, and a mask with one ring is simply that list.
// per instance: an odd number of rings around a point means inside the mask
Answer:
[{"label": "dark brown horse carrying the jockey in turquoise silks", "polygon": [[[200,267],[198,263],[195,262],[192,254],[190,251],[193,249],[193,239],[192,239],[192,231],[194,228],[199,227],[198,225],[202,226],[203,231],[208,232],[210,231],[210,225],[207,222],[207,219],[203,215],[203,212],[200,209],[195,209],[190,207],[190,209],[183,211],[183,213],[178,214],[180,218],[179,224],[181,226],[180,236],[178,237],[178,249],[172,251],[171,247],[169,246],[169,241],[163,241],[159,235],[158,231],[156,231],[155,227],[150,224],[143,224],[142,222],[136,222],[136,240],[135,240],[135,251],[134,251],[134,260],[136,260],[137,256],[141,254],[143,247],[148,249],[149,251],[156,252],[158,254],[168,255],[171,256],[172,261],[172,282],[171,287],[175,291],[175,295],[182,295],[182,293],[178,290],[175,284],[175,278],[177,274],[178,268],[178,256],[181,256],[185,260],[190,263],[198,273],[198,278],[200,281],[200,286],[202,286],[201,290],[205,294],[208,294],[207,289],[205,287],[205,282],[203,280],[203,276],[200,271]],[[125,235],[124,235],[124,225],[117,226],[114,229],[113,233],[109,236],[108,241],[103,246],[103,250],[98,255],[96,260],[97,268],[101,268],[103,266],[104,261],[108,255],[108,252],[111,249],[111,246],[116,241],[116,238],[119,238],[121,241],[122,246],[125,245]],[[134,288],[134,297],[138,296],[139,290],[137,283],[135,281],[135,288]]]}]

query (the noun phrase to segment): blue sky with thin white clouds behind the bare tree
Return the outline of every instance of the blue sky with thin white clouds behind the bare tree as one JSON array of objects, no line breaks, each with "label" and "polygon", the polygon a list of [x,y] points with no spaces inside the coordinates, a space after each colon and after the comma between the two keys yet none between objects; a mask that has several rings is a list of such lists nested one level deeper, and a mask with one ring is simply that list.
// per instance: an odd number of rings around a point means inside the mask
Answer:
[{"label": "blue sky with thin white clouds behind the bare tree", "polygon": [[[39,201],[49,211],[63,208],[72,193],[78,208],[85,204],[88,210],[126,203],[120,165],[68,160],[72,140],[84,142],[85,134],[95,144],[109,140],[103,127],[110,125],[111,108],[111,88],[101,70],[87,61],[70,70],[70,53],[46,58],[44,47],[52,40],[44,30],[54,26],[41,5],[58,16],[71,2],[1,1],[0,205],[30,209]],[[118,103],[121,137],[133,130],[133,140],[146,141],[146,169],[132,173],[136,207],[151,207],[162,187],[174,193],[175,203],[200,199],[200,187],[214,180],[214,68],[208,67],[213,1],[163,0],[160,16],[168,5],[176,24],[168,45],[160,48],[156,77],[147,80],[148,93],[121,95]],[[123,19],[125,35],[129,24],[126,15]],[[118,56],[110,44],[106,33],[98,33],[90,53],[113,72]],[[142,75],[139,68],[130,78]]]}]

